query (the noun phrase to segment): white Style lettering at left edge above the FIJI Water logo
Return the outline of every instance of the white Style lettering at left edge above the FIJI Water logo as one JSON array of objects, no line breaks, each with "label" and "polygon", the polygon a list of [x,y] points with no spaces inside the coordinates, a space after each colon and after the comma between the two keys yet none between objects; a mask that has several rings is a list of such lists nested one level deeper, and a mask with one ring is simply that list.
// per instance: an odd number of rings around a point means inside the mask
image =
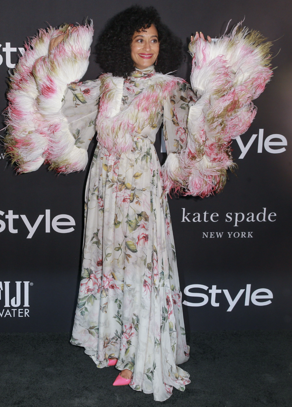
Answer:
[{"label": "white Style lettering at left edge above the FIJI Water logo", "polygon": [[[5,212],[0,210],[0,216],[4,217],[4,214],[5,214]],[[45,226],[46,233],[51,232],[51,227],[57,233],[70,233],[70,232],[73,232],[73,230],[74,230],[74,228],[72,228],[72,226],[75,226],[74,218],[72,216],[66,215],[66,214],[57,215],[51,221],[51,210],[50,209],[46,209],[45,215],[39,215],[38,219],[35,221],[34,224],[30,223],[30,221],[27,219],[26,215],[15,215],[15,214],[13,214],[13,210],[9,210],[8,214],[5,215],[5,219],[8,220],[7,221],[8,230],[10,233],[18,233],[18,229],[15,229],[15,223],[16,223],[15,219],[19,219],[19,217],[20,217],[20,219],[22,219],[22,221],[24,222],[24,225],[27,227],[27,230],[29,232],[29,234],[27,235],[27,239],[31,239],[33,237],[33,234],[38,229],[43,218],[44,218],[44,222],[42,222],[42,223]],[[64,219],[66,219],[66,221],[64,221]],[[0,218],[0,232],[3,232],[6,229],[7,223],[5,223],[4,220],[2,220]],[[66,226],[66,228],[62,229],[62,228],[60,228],[60,226]]]}]

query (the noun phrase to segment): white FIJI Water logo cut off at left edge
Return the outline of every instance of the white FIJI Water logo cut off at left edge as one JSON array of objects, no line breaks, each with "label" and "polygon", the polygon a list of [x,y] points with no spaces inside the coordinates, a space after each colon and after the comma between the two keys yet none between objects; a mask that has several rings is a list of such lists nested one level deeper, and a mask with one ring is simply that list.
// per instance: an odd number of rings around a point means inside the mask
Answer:
[{"label": "white FIJI Water logo cut off at left edge", "polygon": [[29,287],[33,283],[15,281],[11,284],[16,284],[16,295],[12,298],[10,281],[0,281],[0,304],[4,301],[4,307],[0,306],[0,317],[29,317]]}]

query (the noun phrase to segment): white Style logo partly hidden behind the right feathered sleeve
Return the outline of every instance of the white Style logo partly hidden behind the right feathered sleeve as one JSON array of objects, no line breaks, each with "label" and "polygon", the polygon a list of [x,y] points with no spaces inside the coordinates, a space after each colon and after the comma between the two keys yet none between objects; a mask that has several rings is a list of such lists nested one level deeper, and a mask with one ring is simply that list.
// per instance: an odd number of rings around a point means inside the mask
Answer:
[{"label": "white Style logo partly hidden behind the right feathered sleeve", "polygon": [[254,140],[257,137],[258,137],[257,143],[258,153],[263,152],[263,147],[265,151],[271,154],[279,154],[286,151],[285,147],[283,146],[287,146],[287,139],[284,136],[282,136],[282,134],[271,134],[270,136],[266,137],[265,140],[263,140],[263,129],[259,129],[259,134],[253,134],[251,138],[248,140],[246,146],[243,145],[243,142],[240,137],[236,138],[237,144],[241,149],[241,155],[239,155],[239,159],[243,159],[246,156],[246,153],[248,152],[248,150],[250,149],[251,145],[253,144]]}]

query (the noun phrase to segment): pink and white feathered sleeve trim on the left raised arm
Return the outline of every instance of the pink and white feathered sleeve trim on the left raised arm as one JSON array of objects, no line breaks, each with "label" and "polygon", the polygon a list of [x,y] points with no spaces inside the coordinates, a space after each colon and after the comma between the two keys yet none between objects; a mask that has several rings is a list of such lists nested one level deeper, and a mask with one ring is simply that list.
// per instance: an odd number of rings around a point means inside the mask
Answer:
[{"label": "pink and white feathered sleeve trim on the left raised arm", "polygon": [[[66,33],[64,41],[48,55],[51,38]],[[19,173],[37,170],[43,162],[50,169],[68,173],[83,170],[87,153],[75,147],[68,124],[61,114],[61,101],[68,83],[86,72],[92,26],[40,30],[25,44],[10,77],[6,110],[5,147]]]}]

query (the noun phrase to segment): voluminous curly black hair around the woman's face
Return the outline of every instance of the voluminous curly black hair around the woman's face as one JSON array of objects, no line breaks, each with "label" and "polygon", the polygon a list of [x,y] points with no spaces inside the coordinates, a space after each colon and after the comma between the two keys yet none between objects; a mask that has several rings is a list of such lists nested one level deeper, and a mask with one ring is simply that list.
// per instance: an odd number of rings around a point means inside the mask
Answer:
[{"label": "voluminous curly black hair around the woman's face", "polygon": [[156,72],[166,74],[179,68],[183,60],[182,42],[161,21],[154,7],[132,6],[109,20],[95,46],[96,61],[104,72],[128,77],[133,72],[131,43],[135,31],[145,30],[152,24],[160,42]]}]

